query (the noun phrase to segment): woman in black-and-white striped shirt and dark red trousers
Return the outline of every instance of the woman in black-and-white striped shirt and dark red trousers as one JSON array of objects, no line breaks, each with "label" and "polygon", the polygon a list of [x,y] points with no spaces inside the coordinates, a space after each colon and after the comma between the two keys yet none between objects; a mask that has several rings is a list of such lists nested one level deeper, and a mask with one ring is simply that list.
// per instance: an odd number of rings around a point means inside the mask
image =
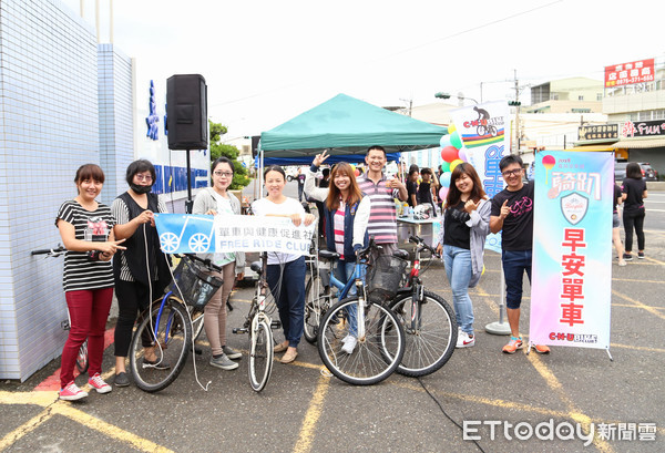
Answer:
[{"label": "woman in black-and-white striped shirt and dark red trousers", "polygon": [[104,330],[113,299],[111,258],[124,249],[114,240],[115,219],[109,206],[95,198],[104,185],[104,172],[95,164],[76,171],[74,178],[79,195],[60,206],[55,226],[66,248],[64,255],[64,296],[70,312],[70,331],[62,350],[60,399],[80,400],[88,393],[74,382],[74,364],[81,344],[88,338],[90,361],[88,383],[100,393],[111,385],[100,377],[104,354]]}]

